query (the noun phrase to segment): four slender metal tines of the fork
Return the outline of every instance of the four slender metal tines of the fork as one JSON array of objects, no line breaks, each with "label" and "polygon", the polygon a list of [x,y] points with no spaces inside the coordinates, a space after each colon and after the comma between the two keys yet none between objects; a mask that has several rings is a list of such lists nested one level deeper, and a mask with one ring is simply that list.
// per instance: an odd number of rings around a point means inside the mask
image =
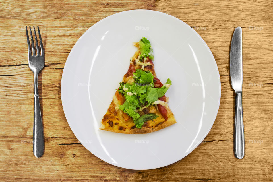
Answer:
[{"label": "four slender metal tines of the fork", "polygon": [[[40,40],[41,56],[44,56],[44,48],[43,48],[43,43],[42,43],[42,38],[41,38],[39,26],[37,26],[37,28],[38,28],[38,34],[39,34],[39,40]],[[36,42],[36,52],[37,52],[37,56],[40,56],[40,50],[39,50],[38,40],[37,40],[36,31],[35,31],[35,27],[34,27],[34,26],[33,26],[33,29],[34,29],[34,36],[35,36],[35,42]],[[27,28],[27,26],[26,26],[26,38],[27,38],[27,40],[28,40],[28,56],[36,56],[36,53],[35,53],[35,46],[34,46],[34,41],[33,41],[32,32],[31,32],[30,26],[29,26],[29,30],[30,30],[32,54],[31,54],[31,49],[30,49],[29,37],[28,37],[28,28]]]}]

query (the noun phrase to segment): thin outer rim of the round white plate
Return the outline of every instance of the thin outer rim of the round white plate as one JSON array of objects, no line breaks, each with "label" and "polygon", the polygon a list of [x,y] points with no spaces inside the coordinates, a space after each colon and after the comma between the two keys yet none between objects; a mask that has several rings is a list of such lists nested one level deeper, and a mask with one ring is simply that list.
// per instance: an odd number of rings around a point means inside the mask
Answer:
[{"label": "thin outer rim of the round white plate", "polygon": [[[112,15],[109,15],[109,16],[107,16],[107,17],[101,19],[100,21],[96,22],[94,25],[90,26],[90,28],[88,28],[88,29],[80,36],[80,38],[78,38],[78,40],[76,41],[76,43],[74,44],[74,46],[73,46],[72,49],[70,50],[69,55],[67,56],[67,59],[66,59],[66,61],[65,61],[65,65],[64,65],[63,73],[62,73],[62,78],[61,78],[61,102],[62,102],[62,107],[63,107],[64,114],[66,113],[65,107],[64,107],[64,101],[63,101],[63,97],[62,97],[62,96],[63,96],[63,92],[64,92],[64,91],[63,91],[63,87],[64,87],[64,86],[63,86],[64,72],[65,72],[65,68],[66,68],[66,65],[67,65],[67,60],[68,60],[69,57],[71,56],[71,52],[73,51],[74,47],[76,47],[76,45],[80,42],[80,40],[82,39],[82,37],[83,37],[90,29],[92,30],[92,28],[93,28],[94,26],[97,26],[98,24],[100,24],[100,22],[102,22],[102,21],[104,21],[104,20],[106,20],[106,19],[108,19],[108,18],[110,18],[110,17],[112,17],[112,16],[115,16],[115,15],[117,15],[117,14],[123,14],[123,13],[127,13],[127,12],[129,12],[129,11],[130,11],[130,12],[131,12],[131,11],[152,11],[152,12],[155,12],[155,13],[164,14],[165,16],[169,16],[169,17],[171,17],[171,18],[174,18],[174,19],[176,19],[176,20],[179,20],[179,21],[182,22],[184,25],[190,27],[187,23],[183,22],[183,21],[180,20],[179,18],[176,18],[175,16],[172,16],[172,15],[169,15],[169,14],[167,14],[167,13],[160,12],[160,11],[146,10],[146,9],[134,9],[134,10],[121,11],[121,12],[118,12],[118,13],[115,13],[115,14],[112,14]],[[204,140],[204,138],[206,138],[206,136],[207,136],[208,133],[210,132],[210,130],[211,130],[211,128],[212,128],[212,126],[213,126],[213,124],[214,124],[214,122],[215,122],[215,120],[216,120],[216,117],[217,117],[218,111],[219,111],[219,107],[220,107],[220,102],[221,102],[221,80],[220,80],[220,73],[219,73],[218,65],[217,65],[217,63],[216,63],[216,61],[215,61],[214,55],[212,54],[212,52],[211,52],[210,48],[208,47],[208,45],[206,44],[206,42],[202,39],[202,37],[201,37],[201,36],[200,36],[192,27],[190,27],[190,28],[195,32],[194,34],[196,34],[196,35],[200,38],[201,42],[204,44],[204,46],[206,47],[206,49],[208,50],[208,52],[210,53],[210,55],[212,56],[212,58],[213,58],[213,60],[214,60],[213,63],[214,63],[214,66],[216,67],[216,70],[217,70],[217,73],[218,73],[217,75],[218,75],[218,84],[219,84],[219,98],[218,98],[219,102],[218,102],[218,107],[217,107],[217,111],[216,111],[216,113],[215,113],[213,122],[212,122],[212,124],[210,125],[208,131],[206,131],[206,134],[202,137],[202,140],[198,141],[198,142],[192,147],[191,150],[189,150],[187,153],[185,153],[185,154],[186,154],[185,156],[179,158],[178,160],[175,159],[175,161],[171,161],[171,162],[167,163],[166,165],[164,164],[164,166],[160,166],[160,167],[169,166],[169,165],[171,165],[171,164],[173,164],[173,163],[175,163],[175,162],[177,162],[177,161],[179,161],[179,160],[185,158],[185,157],[186,157],[187,155],[189,155],[193,150],[195,150],[195,149],[198,147],[198,145]],[[69,125],[71,131],[73,132],[73,134],[75,135],[75,137],[78,139],[76,132],[71,128],[71,126],[70,126],[70,124],[69,124],[69,121],[68,121],[68,119],[67,119],[66,114],[65,114],[65,118],[66,118],[66,120],[67,120],[67,123],[68,123],[68,125]],[[85,143],[82,143],[82,145],[83,145],[90,153],[92,153],[92,152],[85,146]],[[97,154],[94,154],[94,153],[92,153],[92,154],[93,154],[94,156],[98,157],[99,159],[103,160],[104,162],[107,162],[106,160],[104,160],[104,158],[101,158],[101,157],[98,156]],[[109,162],[107,162],[107,163],[108,163],[108,164],[111,164],[111,163],[109,163]],[[119,164],[111,164],[111,165],[117,166],[117,167],[121,167]],[[157,169],[157,168],[160,168],[160,167],[154,167],[154,168],[141,168],[141,169],[136,169],[136,168],[125,168],[125,167],[121,167],[121,168],[131,169],[131,170],[149,170],[149,169]]]}]

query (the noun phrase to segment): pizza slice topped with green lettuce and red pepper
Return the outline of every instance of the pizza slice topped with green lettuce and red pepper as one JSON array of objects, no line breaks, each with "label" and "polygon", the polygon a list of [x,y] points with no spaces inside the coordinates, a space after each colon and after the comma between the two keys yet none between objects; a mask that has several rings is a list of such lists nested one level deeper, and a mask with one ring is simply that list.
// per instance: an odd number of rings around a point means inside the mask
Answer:
[{"label": "pizza slice topped with green lettuce and red pepper", "polygon": [[134,45],[138,50],[102,119],[102,130],[143,134],[176,123],[165,96],[171,80],[162,84],[156,77],[148,39],[143,37]]}]

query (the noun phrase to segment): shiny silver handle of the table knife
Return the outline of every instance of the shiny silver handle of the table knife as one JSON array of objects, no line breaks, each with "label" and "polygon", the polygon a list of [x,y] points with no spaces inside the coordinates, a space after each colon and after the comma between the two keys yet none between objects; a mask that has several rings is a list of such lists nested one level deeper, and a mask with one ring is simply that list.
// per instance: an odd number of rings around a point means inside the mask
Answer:
[{"label": "shiny silver handle of the table knife", "polygon": [[245,135],[243,123],[242,92],[236,93],[235,108],[235,132],[234,132],[234,149],[235,156],[242,159],[245,156]]}]

